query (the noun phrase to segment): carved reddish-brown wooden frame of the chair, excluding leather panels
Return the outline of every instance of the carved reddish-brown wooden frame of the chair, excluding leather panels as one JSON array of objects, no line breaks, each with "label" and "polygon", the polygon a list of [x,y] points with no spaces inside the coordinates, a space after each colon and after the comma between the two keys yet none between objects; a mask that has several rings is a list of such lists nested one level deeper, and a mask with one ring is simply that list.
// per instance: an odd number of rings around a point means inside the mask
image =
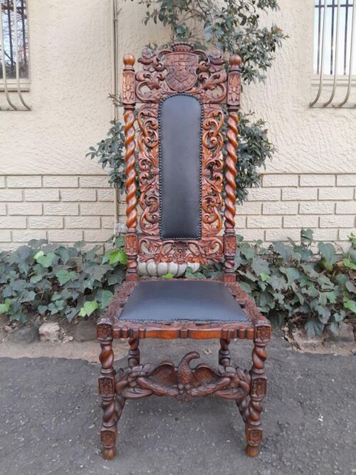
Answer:
[{"label": "carved reddish-brown wooden frame of the chair, excluding leather panels", "polygon": [[[271,325],[236,282],[234,273],[241,61],[238,56],[231,56],[227,68],[220,51],[194,50],[187,43],[175,43],[160,51],[145,48],[138,62],[142,69],[135,72],[135,58],[132,55],[125,56],[122,74],[127,176],[127,275],[105,315],[98,321],[103,456],[106,459],[115,456],[117,421],[125,401],[150,395],[165,395],[181,401],[206,395],[234,400],[245,422],[247,454],[257,455],[262,439],[261,401],[266,395],[267,382],[264,362],[266,345],[271,338]],[[160,237],[159,107],[165,98],[177,94],[193,95],[199,99],[203,110],[200,239]],[[140,103],[137,110],[137,135],[136,103]],[[224,155],[224,112],[221,104],[227,105],[228,113]],[[137,184],[140,189],[138,202]],[[142,209],[140,234],[137,234],[137,205]],[[125,310],[132,292],[136,286],[140,286],[138,256],[142,261],[155,259],[157,262],[202,264],[224,259],[223,281],[247,318],[229,322],[121,320],[121,312]],[[130,345],[128,366],[117,372],[113,367],[114,338],[128,338]],[[178,365],[170,360],[161,362],[157,367],[152,367],[150,363],[141,364],[139,341],[142,338],[218,338],[218,368],[213,369],[205,363],[194,366],[192,361],[200,357],[197,351],[187,353]],[[252,367],[249,371],[241,370],[231,363],[229,343],[235,338],[253,340]]]}]

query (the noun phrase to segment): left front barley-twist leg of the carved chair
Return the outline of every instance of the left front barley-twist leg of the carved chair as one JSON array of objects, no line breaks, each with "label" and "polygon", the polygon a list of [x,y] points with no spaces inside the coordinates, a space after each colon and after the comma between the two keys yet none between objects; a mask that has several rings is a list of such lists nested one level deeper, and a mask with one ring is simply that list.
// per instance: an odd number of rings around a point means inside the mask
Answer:
[{"label": "left front barley-twist leg of the carved chair", "polygon": [[[115,404],[115,370],[113,367],[114,352],[112,351],[112,339],[101,341],[100,353],[100,377],[99,392],[101,396],[101,407],[103,407],[103,422],[100,429],[100,439],[103,444],[103,458],[113,459],[116,454],[117,421],[120,414],[117,413],[118,406]],[[120,410],[121,413],[121,410]]]}]

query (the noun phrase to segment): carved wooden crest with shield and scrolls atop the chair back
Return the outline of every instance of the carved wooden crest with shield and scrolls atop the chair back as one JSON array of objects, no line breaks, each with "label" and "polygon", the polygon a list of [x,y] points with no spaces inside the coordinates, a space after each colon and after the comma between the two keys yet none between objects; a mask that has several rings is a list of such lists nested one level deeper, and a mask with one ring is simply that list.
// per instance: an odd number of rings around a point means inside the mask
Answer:
[{"label": "carved wooden crest with shield and scrolls atop the chair back", "polygon": [[158,103],[167,95],[189,93],[205,103],[226,100],[227,75],[221,51],[206,53],[187,43],[152,51],[145,48],[138,60],[143,71],[136,73],[135,92],[142,103]]}]

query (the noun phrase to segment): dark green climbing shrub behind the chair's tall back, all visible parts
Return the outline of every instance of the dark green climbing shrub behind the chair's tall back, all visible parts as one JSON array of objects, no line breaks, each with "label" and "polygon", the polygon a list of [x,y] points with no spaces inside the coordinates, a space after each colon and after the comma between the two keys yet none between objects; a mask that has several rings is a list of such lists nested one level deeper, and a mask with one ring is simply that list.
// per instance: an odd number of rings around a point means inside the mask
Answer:
[{"label": "dark green climbing shrub behind the chair's tall back, all visible parts", "polygon": [[[189,41],[198,48],[217,47],[222,51],[239,53],[244,83],[263,81],[272,66],[274,53],[286,36],[272,25],[261,28],[261,13],[278,9],[276,0],[141,0],[147,6],[145,24],[152,20],[169,26],[172,41]],[[272,158],[274,147],[268,141],[263,120],[251,120],[252,114],[240,115],[239,162],[236,177],[236,197],[243,202],[248,189],[261,182],[258,167]],[[111,122],[108,138],[90,147],[87,154],[108,167],[110,183],[125,190],[123,126]]]}]

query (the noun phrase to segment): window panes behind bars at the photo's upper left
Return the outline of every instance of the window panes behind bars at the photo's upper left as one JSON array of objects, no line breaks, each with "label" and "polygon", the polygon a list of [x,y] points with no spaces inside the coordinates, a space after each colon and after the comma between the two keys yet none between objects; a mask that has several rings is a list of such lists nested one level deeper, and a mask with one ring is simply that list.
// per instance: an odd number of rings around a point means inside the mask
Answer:
[{"label": "window panes behind bars at the photo's upper left", "polygon": [[1,68],[0,79],[28,78],[28,25],[26,0],[0,0]]}]

